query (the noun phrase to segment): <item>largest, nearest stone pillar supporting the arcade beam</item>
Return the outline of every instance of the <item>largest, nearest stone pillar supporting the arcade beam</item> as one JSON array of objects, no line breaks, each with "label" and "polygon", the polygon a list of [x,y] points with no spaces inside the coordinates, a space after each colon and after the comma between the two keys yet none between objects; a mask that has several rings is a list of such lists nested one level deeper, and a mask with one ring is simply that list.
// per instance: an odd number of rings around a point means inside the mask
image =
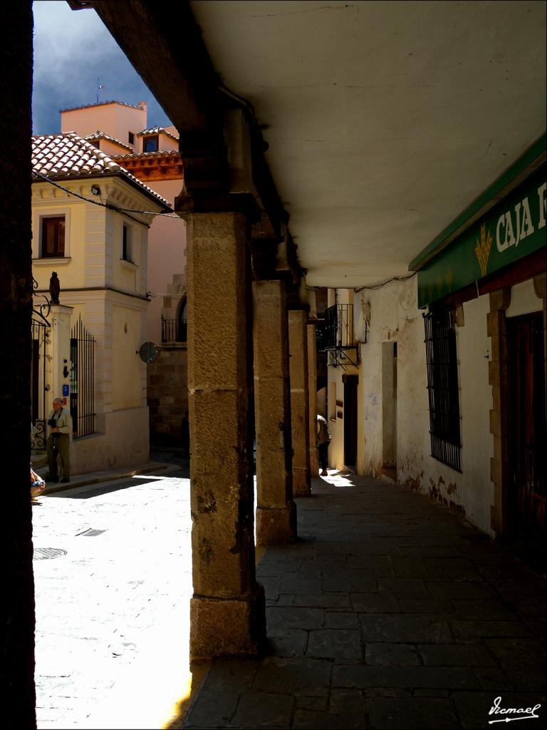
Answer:
[{"label": "largest, nearest stone pillar supporting the arcade beam", "polygon": [[[240,196],[234,196],[240,197]],[[187,213],[192,658],[256,654],[252,331],[244,212]]]}]

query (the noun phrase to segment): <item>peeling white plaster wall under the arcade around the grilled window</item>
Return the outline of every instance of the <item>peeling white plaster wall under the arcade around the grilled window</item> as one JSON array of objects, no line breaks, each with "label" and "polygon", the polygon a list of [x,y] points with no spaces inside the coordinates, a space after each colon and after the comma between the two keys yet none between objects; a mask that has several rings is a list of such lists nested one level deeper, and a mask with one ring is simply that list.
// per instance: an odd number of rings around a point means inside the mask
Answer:
[{"label": "peeling white plaster wall under the arcade around the grilled window", "polygon": [[[382,347],[397,342],[396,465],[397,482],[438,499],[479,529],[490,532],[493,455],[488,383],[490,339],[486,334],[489,298],[459,307],[456,328],[462,473],[430,456],[424,323],[416,307],[416,281],[394,282],[380,290],[364,290],[355,298],[356,322],[370,307],[368,343],[360,364],[360,434],[357,469],[382,477],[384,458]],[[386,477],[384,477],[386,478]]]}]

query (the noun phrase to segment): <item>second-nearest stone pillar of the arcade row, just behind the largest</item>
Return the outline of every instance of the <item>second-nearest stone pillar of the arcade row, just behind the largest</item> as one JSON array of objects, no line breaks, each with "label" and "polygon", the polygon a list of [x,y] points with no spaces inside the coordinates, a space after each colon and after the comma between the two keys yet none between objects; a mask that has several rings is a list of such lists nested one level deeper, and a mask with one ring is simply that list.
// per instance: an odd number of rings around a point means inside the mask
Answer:
[{"label": "second-nearest stone pillar of the arcade row, just behind the largest", "polygon": [[252,293],[257,545],[276,545],[292,542],[296,537],[287,301],[285,285],[281,281],[255,281]]}]

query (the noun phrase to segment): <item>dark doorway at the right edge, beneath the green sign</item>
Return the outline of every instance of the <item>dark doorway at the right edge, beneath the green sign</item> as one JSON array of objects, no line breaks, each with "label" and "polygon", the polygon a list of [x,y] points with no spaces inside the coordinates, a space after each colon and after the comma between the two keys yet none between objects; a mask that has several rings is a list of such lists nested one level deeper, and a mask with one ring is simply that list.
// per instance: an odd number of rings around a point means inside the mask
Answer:
[{"label": "dark doorway at the right edge, beneath the green sign", "polygon": [[[507,320],[509,345],[508,528],[513,539],[547,547],[546,401],[543,314]],[[535,548],[532,548],[535,549]]]}]

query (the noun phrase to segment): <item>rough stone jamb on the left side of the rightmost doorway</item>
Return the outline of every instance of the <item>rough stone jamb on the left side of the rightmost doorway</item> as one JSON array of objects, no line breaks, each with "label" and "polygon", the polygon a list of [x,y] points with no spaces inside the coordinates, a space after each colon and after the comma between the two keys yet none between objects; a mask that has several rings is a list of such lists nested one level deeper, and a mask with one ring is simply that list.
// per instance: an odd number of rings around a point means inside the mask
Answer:
[{"label": "rough stone jamb on the left side of the rightmost doorway", "polygon": [[507,532],[509,489],[508,449],[508,342],[505,310],[511,304],[511,289],[499,289],[490,294],[487,333],[492,340],[492,358],[488,364],[488,380],[492,385],[490,433],[494,439],[494,456],[490,460],[490,479],[494,484],[494,504],[491,507],[491,528],[496,537]]}]

